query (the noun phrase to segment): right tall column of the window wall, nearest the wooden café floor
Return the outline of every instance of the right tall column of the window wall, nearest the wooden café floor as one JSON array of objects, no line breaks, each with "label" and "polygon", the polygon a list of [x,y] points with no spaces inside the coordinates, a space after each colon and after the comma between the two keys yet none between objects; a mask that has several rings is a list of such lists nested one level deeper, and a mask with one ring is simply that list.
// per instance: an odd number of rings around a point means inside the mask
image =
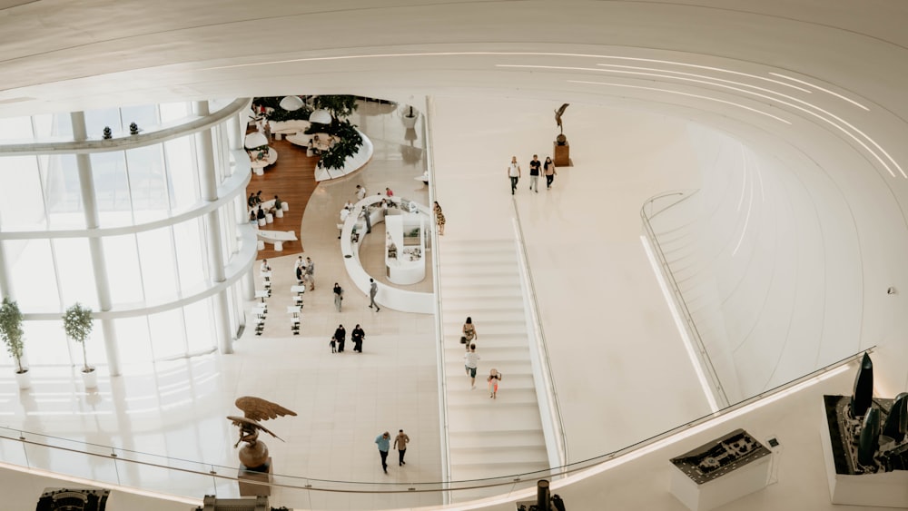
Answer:
[{"label": "right tall column of the window wall, nearest the wooden caf\u00e9 floor", "polygon": [[[200,101],[193,103],[195,114],[206,116],[208,102]],[[202,185],[202,200],[217,201],[218,183],[216,173],[214,172],[214,149],[212,147],[212,131],[205,130],[195,133],[195,148],[199,158],[199,182]],[[215,282],[223,282],[224,277],[224,256],[222,251],[221,240],[221,212],[217,209],[205,215],[206,229],[208,233],[208,266],[209,274]],[[214,304],[214,324],[217,327],[218,348],[224,354],[233,352],[233,336],[230,329],[230,311],[227,307],[227,290],[222,290],[213,297]]]}]

